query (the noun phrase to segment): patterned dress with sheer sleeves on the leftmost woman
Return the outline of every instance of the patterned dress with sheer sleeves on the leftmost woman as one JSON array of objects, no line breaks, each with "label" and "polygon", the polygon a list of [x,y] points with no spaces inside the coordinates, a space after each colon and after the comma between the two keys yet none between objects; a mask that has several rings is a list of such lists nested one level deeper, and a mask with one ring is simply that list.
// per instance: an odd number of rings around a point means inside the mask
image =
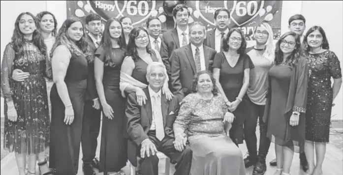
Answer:
[{"label": "patterned dress with sheer sleeves on the leftmost woman", "polygon": [[[32,41],[25,40],[23,54],[17,55],[11,44],[5,48],[1,64],[1,97],[13,101],[17,121],[10,121],[4,104],[4,148],[26,154],[44,152],[49,145],[50,119],[45,84],[46,59]],[[29,72],[22,82],[11,79],[12,71]]]}]

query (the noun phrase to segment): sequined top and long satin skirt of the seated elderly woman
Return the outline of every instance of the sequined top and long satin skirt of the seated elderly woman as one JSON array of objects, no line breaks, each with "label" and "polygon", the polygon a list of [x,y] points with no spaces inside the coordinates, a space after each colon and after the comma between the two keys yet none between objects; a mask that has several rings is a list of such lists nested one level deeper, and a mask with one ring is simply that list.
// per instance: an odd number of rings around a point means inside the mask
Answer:
[{"label": "sequined top and long satin skirt of the seated elderly woman", "polygon": [[226,112],[221,95],[203,100],[191,93],[181,102],[174,128],[187,130],[193,151],[190,175],[246,174],[241,150],[226,136]]}]

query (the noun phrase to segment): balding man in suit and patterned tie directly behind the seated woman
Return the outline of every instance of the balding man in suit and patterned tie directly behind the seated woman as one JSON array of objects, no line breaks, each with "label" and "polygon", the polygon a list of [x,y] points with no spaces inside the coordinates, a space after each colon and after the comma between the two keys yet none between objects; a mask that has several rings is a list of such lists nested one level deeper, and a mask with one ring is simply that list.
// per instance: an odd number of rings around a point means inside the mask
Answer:
[{"label": "balding man in suit and patterned tie directly behind the seated woman", "polygon": [[206,28],[201,22],[194,22],[189,27],[190,44],[173,51],[170,57],[171,89],[182,100],[191,92],[194,75],[201,70],[212,71],[212,62],[216,50],[204,46]]}]

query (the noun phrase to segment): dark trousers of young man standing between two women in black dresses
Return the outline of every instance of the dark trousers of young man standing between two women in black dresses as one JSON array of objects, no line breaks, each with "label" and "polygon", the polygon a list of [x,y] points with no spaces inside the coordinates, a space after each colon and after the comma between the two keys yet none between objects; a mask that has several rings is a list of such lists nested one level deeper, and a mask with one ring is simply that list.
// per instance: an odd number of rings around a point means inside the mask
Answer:
[{"label": "dark trousers of young man standing between two women in black dresses", "polygon": [[92,163],[95,158],[97,137],[100,131],[101,110],[93,108],[93,100],[86,100],[84,107],[84,117],[82,122],[82,161]]}]

